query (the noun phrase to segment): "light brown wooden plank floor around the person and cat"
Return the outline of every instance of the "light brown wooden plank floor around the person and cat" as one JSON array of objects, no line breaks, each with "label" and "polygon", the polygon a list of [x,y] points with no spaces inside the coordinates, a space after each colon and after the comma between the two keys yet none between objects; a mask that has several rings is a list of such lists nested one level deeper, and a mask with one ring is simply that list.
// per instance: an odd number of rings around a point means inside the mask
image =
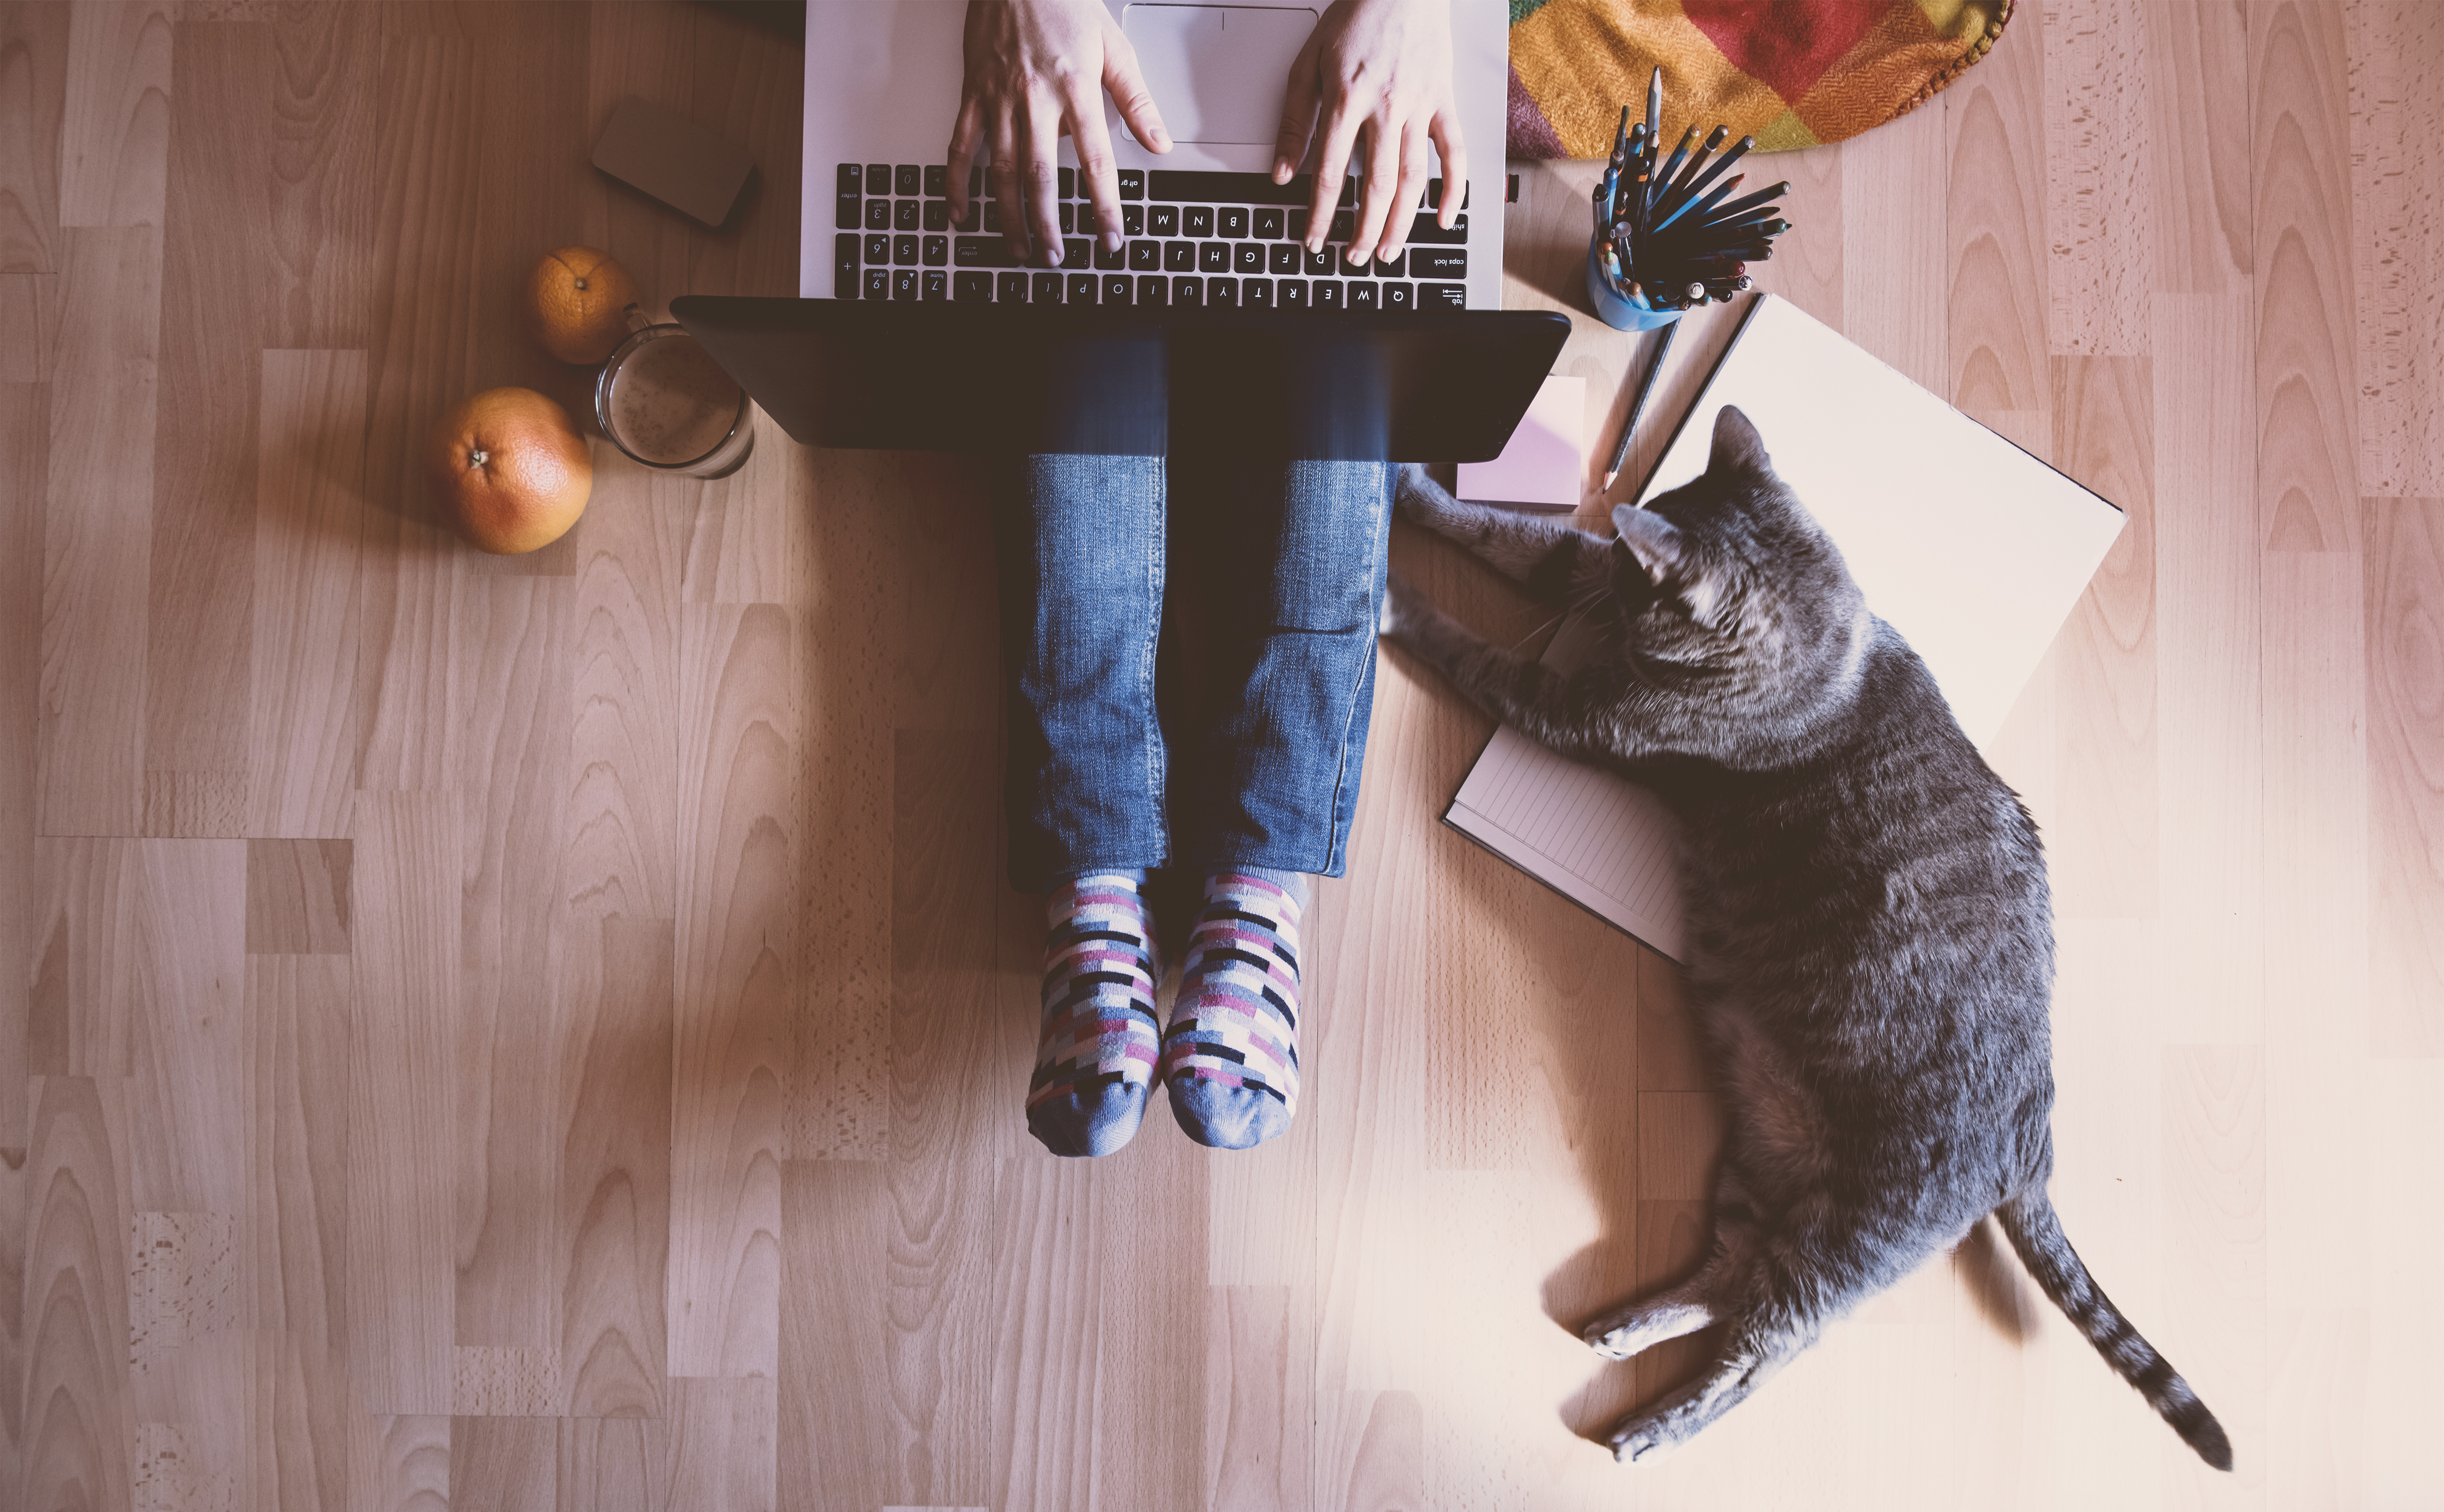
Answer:
[{"label": "light brown wooden plank floor around the person and cat", "polygon": [[[596,442],[565,542],[435,530],[447,401],[584,391],[511,318],[538,252],[794,293],[794,49],[0,5],[0,1505],[2444,1505],[2437,56],[2424,0],[2024,0],[1774,164],[1769,288],[2129,508],[1994,760],[2060,901],[2055,1202],[2239,1470],[1992,1231],[1615,1468],[1691,1356],[1567,1326],[1696,1253],[1716,1109],[1672,970],[1437,826],[1449,691],[1383,664],[1295,1131],[1058,1163],[973,471]],[[750,147],[743,227],[584,166],[631,93]],[[1528,171],[1513,303],[1586,183]],[[1564,366],[1611,403],[1625,352]]]}]

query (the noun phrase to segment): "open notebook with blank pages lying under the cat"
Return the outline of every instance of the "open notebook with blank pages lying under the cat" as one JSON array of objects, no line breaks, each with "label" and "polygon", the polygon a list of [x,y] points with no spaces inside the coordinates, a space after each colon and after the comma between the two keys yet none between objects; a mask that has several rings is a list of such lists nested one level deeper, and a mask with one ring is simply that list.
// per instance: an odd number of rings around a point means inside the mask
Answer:
[{"label": "open notebook with blank pages lying under the cat", "polygon": [[[1772,296],[1740,313],[1640,506],[1706,471],[1725,403],[1755,420],[1867,608],[1909,640],[1960,728],[1987,745],[2121,535],[2121,511]],[[1554,635],[1547,664],[1584,655],[1576,630]],[[1444,823],[1681,958],[1672,816],[1637,784],[1503,725]]]}]

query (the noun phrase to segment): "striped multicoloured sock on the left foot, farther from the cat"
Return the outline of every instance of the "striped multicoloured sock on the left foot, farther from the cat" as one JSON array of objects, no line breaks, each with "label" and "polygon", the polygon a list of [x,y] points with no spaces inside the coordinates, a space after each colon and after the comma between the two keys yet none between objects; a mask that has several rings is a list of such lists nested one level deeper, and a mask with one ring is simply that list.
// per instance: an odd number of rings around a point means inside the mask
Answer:
[{"label": "striped multicoloured sock on the left foot, farther from the cat", "polygon": [[1146,1116],[1154,987],[1144,872],[1088,872],[1044,899],[1044,1026],[1026,1129],[1053,1155],[1110,1155]]}]

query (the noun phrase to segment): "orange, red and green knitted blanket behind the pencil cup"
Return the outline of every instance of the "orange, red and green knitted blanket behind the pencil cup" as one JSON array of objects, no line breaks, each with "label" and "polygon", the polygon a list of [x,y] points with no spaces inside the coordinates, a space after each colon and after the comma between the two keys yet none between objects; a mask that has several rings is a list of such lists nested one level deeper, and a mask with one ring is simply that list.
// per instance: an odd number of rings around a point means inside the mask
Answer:
[{"label": "orange, red and green knitted blanket behind the pencil cup", "polygon": [[1606,156],[1664,71],[1664,129],[1760,151],[1857,137],[1985,56],[2011,0],[1510,0],[1510,156]]}]

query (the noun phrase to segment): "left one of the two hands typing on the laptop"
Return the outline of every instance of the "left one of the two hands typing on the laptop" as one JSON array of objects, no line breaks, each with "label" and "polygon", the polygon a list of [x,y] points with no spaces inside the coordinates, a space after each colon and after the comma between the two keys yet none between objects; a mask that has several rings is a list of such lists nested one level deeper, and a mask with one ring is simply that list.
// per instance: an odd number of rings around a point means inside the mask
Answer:
[{"label": "left one of the two hands typing on the laptop", "polygon": [[960,42],[965,78],[951,127],[951,220],[968,217],[968,169],[982,154],[985,191],[1002,205],[1002,237],[1019,259],[1061,261],[1056,176],[1061,137],[1078,142],[1078,171],[1095,203],[1105,249],[1117,249],[1119,173],[1102,127],[1102,93],[1146,151],[1171,151],[1136,49],[1097,0],[968,0]]}]

